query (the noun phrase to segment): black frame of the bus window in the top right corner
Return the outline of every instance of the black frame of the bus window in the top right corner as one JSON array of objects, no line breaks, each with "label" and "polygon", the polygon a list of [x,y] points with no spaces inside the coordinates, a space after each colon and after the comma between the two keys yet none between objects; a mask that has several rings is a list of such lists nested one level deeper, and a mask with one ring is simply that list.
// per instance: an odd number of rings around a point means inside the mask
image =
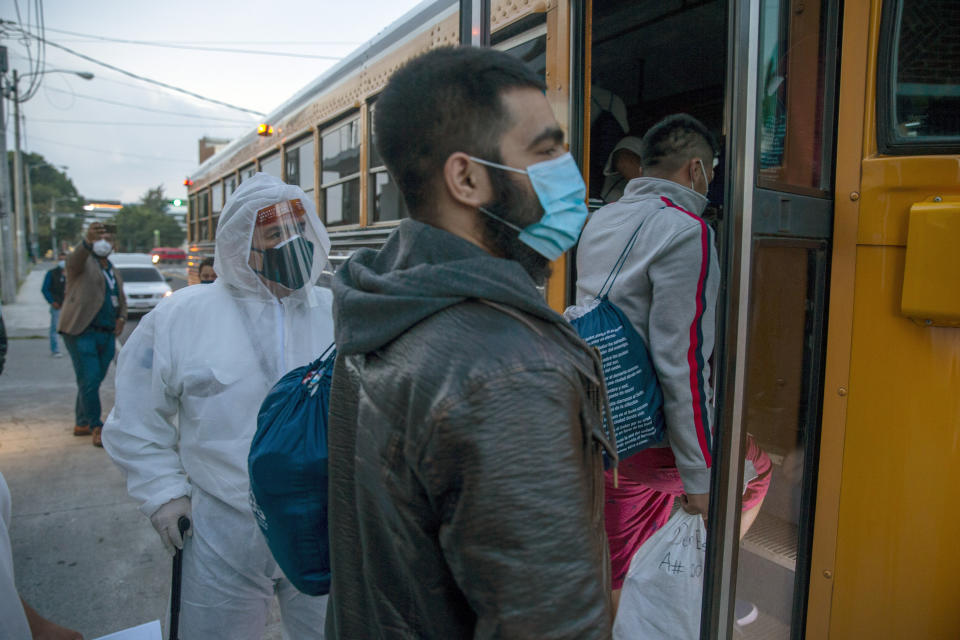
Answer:
[{"label": "black frame of the bus window in the top right corner", "polygon": [[904,0],[884,2],[880,18],[880,43],[877,51],[877,151],[881,155],[921,156],[949,155],[960,153],[960,133],[953,140],[935,141],[918,138],[911,142],[909,138],[896,135],[893,121],[894,100],[896,100],[897,61],[894,56],[900,48],[900,26],[902,25]]}]

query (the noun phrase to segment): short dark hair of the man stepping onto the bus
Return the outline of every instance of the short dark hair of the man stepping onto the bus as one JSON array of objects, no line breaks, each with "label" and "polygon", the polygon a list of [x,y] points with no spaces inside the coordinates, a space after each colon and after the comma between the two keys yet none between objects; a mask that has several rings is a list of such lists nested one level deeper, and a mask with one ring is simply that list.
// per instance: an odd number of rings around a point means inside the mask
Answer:
[{"label": "short dark hair of the man stepping onto the bus", "polygon": [[673,172],[694,157],[715,156],[720,152],[713,134],[702,122],[685,113],[667,116],[643,136],[640,144],[643,172]]}]

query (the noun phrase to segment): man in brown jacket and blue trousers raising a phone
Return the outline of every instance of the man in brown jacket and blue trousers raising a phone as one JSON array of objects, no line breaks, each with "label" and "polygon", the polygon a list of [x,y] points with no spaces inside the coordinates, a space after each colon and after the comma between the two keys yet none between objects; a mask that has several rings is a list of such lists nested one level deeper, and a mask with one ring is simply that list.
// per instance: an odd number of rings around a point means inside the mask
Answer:
[{"label": "man in brown jacket and blue trousers raising a phone", "polygon": [[73,435],[92,433],[97,447],[103,446],[100,383],[127,320],[123,280],[107,259],[111,251],[113,233],[100,222],[91,223],[86,237],[67,256],[66,297],[57,325],[77,376]]}]

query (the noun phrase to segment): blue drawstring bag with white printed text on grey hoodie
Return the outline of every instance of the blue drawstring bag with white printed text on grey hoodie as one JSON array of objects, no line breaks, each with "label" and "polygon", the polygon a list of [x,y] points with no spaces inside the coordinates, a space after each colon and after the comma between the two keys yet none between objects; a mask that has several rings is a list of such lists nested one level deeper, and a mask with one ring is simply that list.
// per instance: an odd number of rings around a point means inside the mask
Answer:
[{"label": "blue drawstring bag with white printed text on grey hoodie", "polygon": [[663,392],[650,352],[630,319],[609,298],[640,227],[620,253],[596,299],[563,312],[580,337],[600,351],[620,460],[663,440]]}]

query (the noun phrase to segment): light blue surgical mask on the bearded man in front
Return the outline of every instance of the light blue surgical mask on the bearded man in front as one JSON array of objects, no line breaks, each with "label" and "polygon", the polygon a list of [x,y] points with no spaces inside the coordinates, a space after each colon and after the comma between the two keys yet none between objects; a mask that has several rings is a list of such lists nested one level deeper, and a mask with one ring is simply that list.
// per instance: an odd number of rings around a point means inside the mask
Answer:
[{"label": "light blue surgical mask on the bearded man in front", "polygon": [[559,158],[532,164],[526,170],[473,156],[470,159],[488,167],[526,175],[530,178],[544,213],[538,222],[521,229],[483,207],[480,211],[516,229],[520,233],[521,242],[548,260],[556,260],[577,243],[583,223],[587,220],[587,186],[583,183],[573,156],[565,153]]}]

